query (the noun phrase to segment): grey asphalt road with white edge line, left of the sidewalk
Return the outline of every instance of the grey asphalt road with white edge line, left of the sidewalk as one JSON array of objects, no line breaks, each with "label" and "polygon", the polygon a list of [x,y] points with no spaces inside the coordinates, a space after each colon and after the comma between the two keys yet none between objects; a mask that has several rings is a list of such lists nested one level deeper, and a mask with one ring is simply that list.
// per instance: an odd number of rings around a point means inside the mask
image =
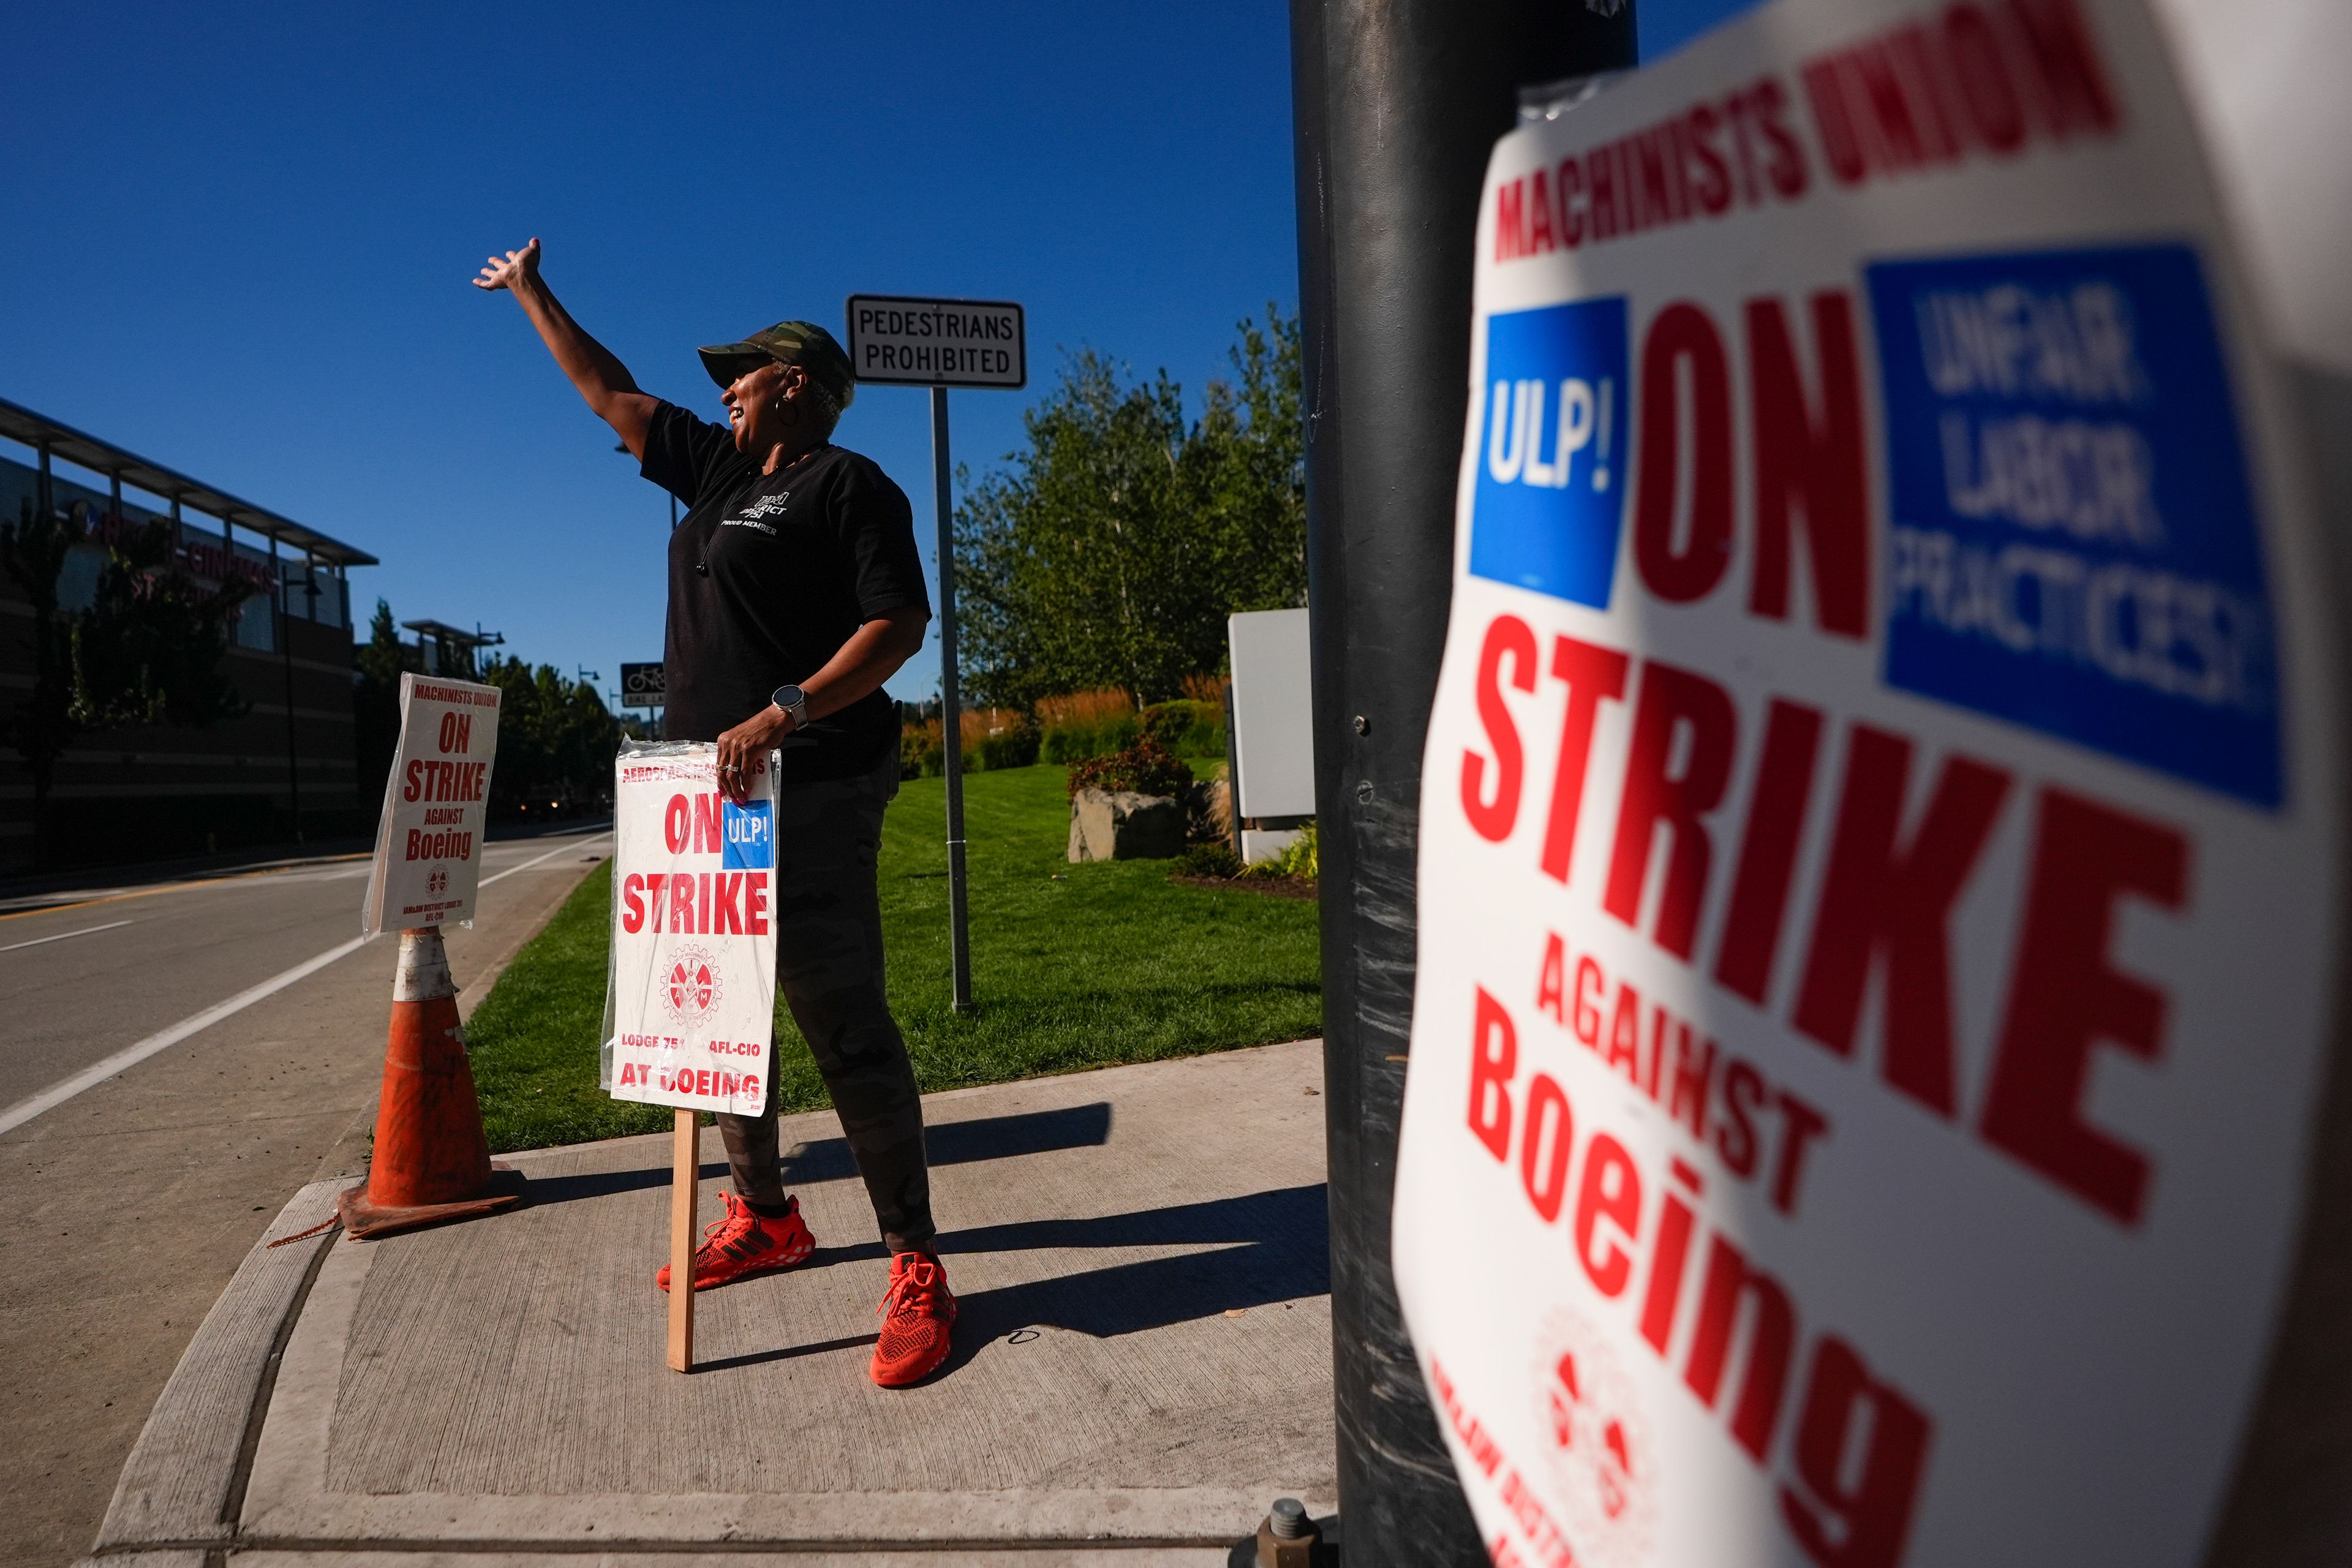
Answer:
[{"label": "grey asphalt road with white edge line, left of the sidewalk", "polygon": [[[609,830],[485,849],[461,1011],[607,853]],[[0,1568],[89,1549],[254,1237],[360,1168],[395,952],[346,950],[365,889],[339,858],[0,900]]]}]

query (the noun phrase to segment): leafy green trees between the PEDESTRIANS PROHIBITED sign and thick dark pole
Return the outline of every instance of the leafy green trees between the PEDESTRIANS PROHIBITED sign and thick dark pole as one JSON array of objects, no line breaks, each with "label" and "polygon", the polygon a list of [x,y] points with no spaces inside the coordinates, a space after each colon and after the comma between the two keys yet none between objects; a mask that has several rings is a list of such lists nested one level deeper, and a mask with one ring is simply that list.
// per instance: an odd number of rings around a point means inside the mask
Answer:
[{"label": "leafy green trees between the PEDESTRIANS PROHIBITED sign and thick dark pole", "polygon": [[1225,663],[1225,616],[1305,602],[1298,322],[1240,324],[1240,386],[1197,423],[1167,371],[1122,383],[1080,350],[1025,416],[1028,451],[955,517],[957,656],[971,693],[1089,686],[1171,698]]}]

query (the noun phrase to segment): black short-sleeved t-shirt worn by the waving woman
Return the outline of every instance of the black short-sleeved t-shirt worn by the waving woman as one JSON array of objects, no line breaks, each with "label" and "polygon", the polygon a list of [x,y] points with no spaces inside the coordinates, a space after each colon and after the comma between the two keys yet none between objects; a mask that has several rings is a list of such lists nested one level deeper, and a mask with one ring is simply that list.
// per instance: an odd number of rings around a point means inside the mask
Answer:
[{"label": "black short-sleeved t-shirt worn by the waving woman", "polygon": [[[663,637],[670,741],[717,741],[769,693],[826,668],[875,616],[931,599],[906,491],[873,458],[818,447],[762,475],[734,433],[673,402],[644,433],[647,480],[687,503],[670,534]],[[793,731],[786,780],[851,778],[898,743],[882,693]]]}]

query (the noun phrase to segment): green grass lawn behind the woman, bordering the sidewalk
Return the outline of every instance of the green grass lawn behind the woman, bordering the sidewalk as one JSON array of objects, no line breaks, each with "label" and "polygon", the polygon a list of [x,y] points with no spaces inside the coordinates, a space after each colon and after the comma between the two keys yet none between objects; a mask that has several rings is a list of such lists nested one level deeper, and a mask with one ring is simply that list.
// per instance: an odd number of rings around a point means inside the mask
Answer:
[{"label": "green grass lawn behind the woman, bordering the sidewalk", "polygon": [[[901,785],[882,827],[889,999],[924,1091],[1148,1063],[1322,1030],[1315,905],[1176,886],[1164,860],[1070,865],[1068,771],[964,778],[971,990],[948,1006],[946,780]],[[600,867],[508,966],[466,1034],[492,1150],[654,1133],[670,1112],[595,1086],[612,875]],[[779,1093],[826,1105],[781,997]]]}]

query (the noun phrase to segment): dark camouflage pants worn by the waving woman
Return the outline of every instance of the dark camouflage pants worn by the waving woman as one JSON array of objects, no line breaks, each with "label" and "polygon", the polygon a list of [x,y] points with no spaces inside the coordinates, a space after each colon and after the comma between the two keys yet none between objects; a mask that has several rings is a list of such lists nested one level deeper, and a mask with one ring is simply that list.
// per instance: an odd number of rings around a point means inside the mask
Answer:
[{"label": "dark camouflage pants worn by the waving woman", "polygon": [[[882,851],[882,809],[896,792],[896,750],[863,778],[779,785],[776,985],[833,1095],[882,1241],[906,1253],[927,1251],[934,1225],[922,1098],[915,1067],[906,1060],[906,1037],[882,994],[875,858]],[[786,1199],[776,1164],[774,1077],[762,1114],[720,1117],[736,1194],[762,1206]]]}]

